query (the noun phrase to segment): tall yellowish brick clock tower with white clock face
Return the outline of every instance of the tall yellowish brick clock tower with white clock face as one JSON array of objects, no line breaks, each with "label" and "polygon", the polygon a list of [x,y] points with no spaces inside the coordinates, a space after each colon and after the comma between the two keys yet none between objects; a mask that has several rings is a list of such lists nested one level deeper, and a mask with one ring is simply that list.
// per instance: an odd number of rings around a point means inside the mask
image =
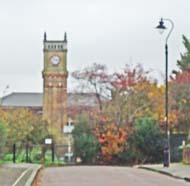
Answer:
[{"label": "tall yellowish brick clock tower with white clock face", "polygon": [[44,33],[43,119],[63,131],[67,122],[67,35],[47,40]]}]

